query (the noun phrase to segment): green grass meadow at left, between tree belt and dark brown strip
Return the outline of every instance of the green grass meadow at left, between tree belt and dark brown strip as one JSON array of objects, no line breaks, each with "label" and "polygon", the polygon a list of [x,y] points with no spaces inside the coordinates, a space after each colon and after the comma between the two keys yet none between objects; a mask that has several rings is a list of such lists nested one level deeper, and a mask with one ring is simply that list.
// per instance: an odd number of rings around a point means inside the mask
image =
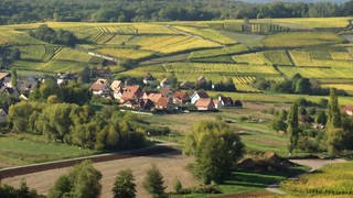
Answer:
[{"label": "green grass meadow at left, between tree belt and dark brown strip", "polygon": [[[42,136],[0,136],[0,166],[25,165],[95,154],[60,143],[47,143]],[[2,164],[3,163],[3,164]]]}]

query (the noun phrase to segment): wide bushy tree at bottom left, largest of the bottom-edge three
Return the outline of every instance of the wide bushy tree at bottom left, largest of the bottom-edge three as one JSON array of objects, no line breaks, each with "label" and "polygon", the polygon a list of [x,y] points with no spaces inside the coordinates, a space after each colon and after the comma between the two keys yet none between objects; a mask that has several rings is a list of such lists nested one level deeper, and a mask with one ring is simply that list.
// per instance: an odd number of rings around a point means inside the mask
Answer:
[{"label": "wide bushy tree at bottom left, largest of the bottom-edge three", "polygon": [[84,161],[75,165],[67,175],[60,177],[47,197],[98,198],[101,189],[100,178],[101,174],[93,167],[92,162]]}]

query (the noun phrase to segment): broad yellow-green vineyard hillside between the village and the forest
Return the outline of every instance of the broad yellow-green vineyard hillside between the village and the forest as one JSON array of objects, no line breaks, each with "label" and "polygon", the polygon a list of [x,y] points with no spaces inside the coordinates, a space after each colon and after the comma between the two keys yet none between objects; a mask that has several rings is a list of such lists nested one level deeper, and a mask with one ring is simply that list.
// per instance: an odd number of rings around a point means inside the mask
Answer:
[{"label": "broad yellow-green vineyard hillside between the village and the forest", "polygon": [[201,75],[213,81],[232,77],[240,91],[257,92],[250,86],[257,78],[281,81],[299,73],[324,87],[352,92],[350,20],[47,22],[55,30],[73,32],[82,42],[69,48],[35,40],[28,33],[41,23],[33,23],[1,26],[0,43],[20,50],[21,59],[11,67],[22,74],[77,73],[88,65],[109,68],[116,77],[148,73],[159,79],[174,74],[179,81]]}]

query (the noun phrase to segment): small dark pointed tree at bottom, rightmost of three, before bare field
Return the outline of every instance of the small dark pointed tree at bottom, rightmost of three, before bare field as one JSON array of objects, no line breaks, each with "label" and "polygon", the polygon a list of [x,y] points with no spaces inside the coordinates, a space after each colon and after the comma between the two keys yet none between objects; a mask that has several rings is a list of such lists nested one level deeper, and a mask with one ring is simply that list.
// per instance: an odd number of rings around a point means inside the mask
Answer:
[{"label": "small dark pointed tree at bottom, rightmost of three, before bare field", "polygon": [[154,164],[147,172],[147,176],[143,180],[143,187],[153,197],[164,196],[165,186],[163,176]]}]

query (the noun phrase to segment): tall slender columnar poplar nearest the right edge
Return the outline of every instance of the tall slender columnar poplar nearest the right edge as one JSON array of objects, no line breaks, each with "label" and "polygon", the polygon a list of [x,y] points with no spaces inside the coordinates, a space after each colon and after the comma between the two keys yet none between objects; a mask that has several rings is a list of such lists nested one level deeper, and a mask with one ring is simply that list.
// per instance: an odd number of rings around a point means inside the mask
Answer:
[{"label": "tall slender columnar poplar nearest the right edge", "polygon": [[344,140],[344,130],[342,129],[339,98],[335,95],[334,88],[330,89],[327,138],[329,155],[338,155],[340,153]]}]

